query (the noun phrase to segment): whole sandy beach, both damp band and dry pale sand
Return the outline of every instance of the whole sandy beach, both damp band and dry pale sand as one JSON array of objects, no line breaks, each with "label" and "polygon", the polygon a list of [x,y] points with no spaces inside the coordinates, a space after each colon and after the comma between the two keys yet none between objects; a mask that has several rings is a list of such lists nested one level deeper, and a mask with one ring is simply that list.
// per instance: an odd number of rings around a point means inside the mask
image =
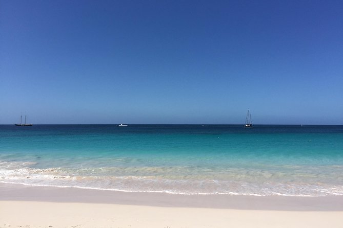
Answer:
[{"label": "whole sandy beach, both damp band and dry pale sand", "polygon": [[342,227],[342,199],[0,184],[0,227]]}]

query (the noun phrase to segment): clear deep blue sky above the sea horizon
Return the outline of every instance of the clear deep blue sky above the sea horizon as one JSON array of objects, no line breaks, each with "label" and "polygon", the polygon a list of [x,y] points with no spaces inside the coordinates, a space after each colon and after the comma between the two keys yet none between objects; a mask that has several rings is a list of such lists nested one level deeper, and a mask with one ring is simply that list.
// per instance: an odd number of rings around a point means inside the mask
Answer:
[{"label": "clear deep blue sky above the sea horizon", "polygon": [[343,1],[0,0],[0,124],[343,124]]}]

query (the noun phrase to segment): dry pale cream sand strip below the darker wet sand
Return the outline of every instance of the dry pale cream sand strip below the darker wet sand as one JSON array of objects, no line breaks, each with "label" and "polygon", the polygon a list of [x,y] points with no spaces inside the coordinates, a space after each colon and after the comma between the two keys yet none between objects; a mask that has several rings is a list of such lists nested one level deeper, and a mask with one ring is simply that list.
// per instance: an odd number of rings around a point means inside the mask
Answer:
[{"label": "dry pale cream sand strip below the darker wet sand", "polygon": [[342,227],[343,212],[1,201],[1,227]]}]

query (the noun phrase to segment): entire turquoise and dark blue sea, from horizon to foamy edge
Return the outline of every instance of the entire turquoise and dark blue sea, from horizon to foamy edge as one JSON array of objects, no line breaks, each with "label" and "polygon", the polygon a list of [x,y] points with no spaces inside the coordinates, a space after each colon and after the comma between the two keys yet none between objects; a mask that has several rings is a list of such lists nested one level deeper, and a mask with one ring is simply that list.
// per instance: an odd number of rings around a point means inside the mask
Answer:
[{"label": "entire turquoise and dark blue sea, from horizon to foamy edge", "polygon": [[343,125],[0,125],[0,183],[343,195]]}]

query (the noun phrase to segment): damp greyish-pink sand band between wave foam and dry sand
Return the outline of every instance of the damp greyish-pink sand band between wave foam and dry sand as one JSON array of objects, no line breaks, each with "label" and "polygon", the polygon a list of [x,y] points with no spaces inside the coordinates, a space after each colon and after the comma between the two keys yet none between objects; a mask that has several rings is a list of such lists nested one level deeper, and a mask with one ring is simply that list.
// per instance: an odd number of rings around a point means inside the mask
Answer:
[{"label": "damp greyish-pink sand band between wave foam and dry sand", "polygon": [[180,195],[0,183],[0,201],[105,203],[149,207],[343,211],[343,196]]}]

